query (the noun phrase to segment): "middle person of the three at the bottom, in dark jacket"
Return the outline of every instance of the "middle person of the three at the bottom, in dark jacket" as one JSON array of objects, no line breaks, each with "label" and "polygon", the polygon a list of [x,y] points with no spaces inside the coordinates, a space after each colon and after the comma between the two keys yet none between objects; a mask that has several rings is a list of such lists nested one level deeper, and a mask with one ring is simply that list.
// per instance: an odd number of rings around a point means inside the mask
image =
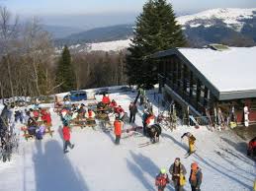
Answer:
[{"label": "middle person of the three at the bottom, in dark jacket", "polygon": [[181,184],[181,180],[183,177],[185,177],[187,170],[185,166],[181,163],[180,158],[176,158],[174,160],[174,163],[169,168],[169,172],[170,174],[172,174],[172,180],[175,187],[175,191],[183,191],[184,184]]}]

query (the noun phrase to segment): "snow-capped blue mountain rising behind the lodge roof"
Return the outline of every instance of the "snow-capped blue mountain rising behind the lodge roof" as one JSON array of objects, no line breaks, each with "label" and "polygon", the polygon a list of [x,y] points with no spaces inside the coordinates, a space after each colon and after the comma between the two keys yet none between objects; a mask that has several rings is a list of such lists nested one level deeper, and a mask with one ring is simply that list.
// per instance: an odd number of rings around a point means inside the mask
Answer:
[{"label": "snow-capped blue mountain rising behind the lodge roof", "polygon": [[192,46],[209,43],[232,46],[256,44],[256,8],[213,9],[177,20]]}]

